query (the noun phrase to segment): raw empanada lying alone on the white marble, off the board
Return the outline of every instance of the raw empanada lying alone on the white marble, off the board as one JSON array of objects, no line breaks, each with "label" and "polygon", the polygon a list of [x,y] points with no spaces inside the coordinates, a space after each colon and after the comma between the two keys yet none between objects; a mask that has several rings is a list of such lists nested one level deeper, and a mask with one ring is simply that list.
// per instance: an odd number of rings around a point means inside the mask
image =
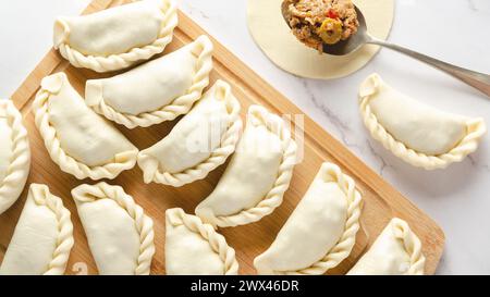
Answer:
[{"label": "raw empanada lying alone on the white marble, off the board", "polygon": [[372,137],[405,162],[443,169],[474,152],[486,133],[482,119],[467,119],[420,103],[377,74],[360,86],[360,112]]}]

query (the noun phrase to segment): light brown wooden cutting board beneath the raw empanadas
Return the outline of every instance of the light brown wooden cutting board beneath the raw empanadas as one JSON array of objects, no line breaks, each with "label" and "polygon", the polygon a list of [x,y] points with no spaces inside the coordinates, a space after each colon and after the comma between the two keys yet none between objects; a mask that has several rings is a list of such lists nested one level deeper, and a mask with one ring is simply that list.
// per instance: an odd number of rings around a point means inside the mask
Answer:
[{"label": "light brown wooden cutting board beneath the raw empanadas", "polygon": [[[124,1],[95,0],[84,13],[107,9],[121,4],[122,2]],[[179,13],[179,17],[180,25],[175,30],[174,41],[167,48],[166,52],[173,51],[184,44],[188,44],[199,35],[206,34],[206,32],[183,13]],[[229,50],[212,39],[212,37],[211,40],[216,49],[215,70],[211,74],[211,81],[215,82],[217,78],[221,78],[232,85],[235,96],[242,103],[243,117],[248,106],[253,103],[262,104],[281,115],[303,114],[289,99],[273,89]],[[28,184],[47,184],[54,195],[62,197],[64,205],[72,212],[75,245],[72,249],[66,273],[76,274],[88,272],[89,274],[96,274],[97,268],[88,249],[75,205],[70,195],[71,189],[82,183],[94,184],[95,182],[88,180],[77,181],[75,177],[60,171],[58,165],[49,158],[34,124],[33,113],[30,112],[32,100],[39,88],[42,77],[60,71],[64,71],[68,74],[72,85],[82,95],[87,78],[102,76],[91,71],[70,66],[58,52],[51,50],[15,91],[12,99],[16,107],[22,110],[25,116],[25,125],[29,132],[33,162]],[[119,128],[139,149],[145,149],[163,138],[174,124],[175,122],[163,123],[150,128],[136,128],[133,131],[122,126],[119,126]],[[355,157],[346,147],[306,115],[304,116],[303,126],[304,159],[294,170],[293,181],[284,196],[282,206],[258,223],[220,230],[220,233],[226,237],[228,243],[236,249],[240,273],[255,273],[252,264],[254,258],[267,249],[272,243],[277,233],[305,194],[320,164],[323,161],[330,161],[339,164],[345,173],[355,180],[357,188],[364,197],[364,210],[362,215],[363,230],[357,236],[356,245],[351,257],[329,273],[340,274],[348,271],[390,219],[396,215],[406,220],[421,239],[424,253],[427,257],[426,272],[432,274],[436,271],[443,250],[444,234],[442,230],[427,214],[403,197],[396,189]],[[297,134],[297,136],[299,135]],[[155,244],[157,252],[151,265],[152,274],[164,274],[164,211],[168,208],[181,207],[186,212],[193,213],[194,208],[199,201],[211,193],[225,165],[215,170],[206,180],[181,188],[157,184],[145,185],[143,183],[143,174],[138,168],[126,171],[114,181],[109,182],[123,186],[126,193],[132,195],[136,202],[155,221]],[[26,199],[27,188],[28,186],[26,186],[23,195],[14,206],[4,214],[0,215],[0,258],[3,258],[3,253],[13,234]]]}]

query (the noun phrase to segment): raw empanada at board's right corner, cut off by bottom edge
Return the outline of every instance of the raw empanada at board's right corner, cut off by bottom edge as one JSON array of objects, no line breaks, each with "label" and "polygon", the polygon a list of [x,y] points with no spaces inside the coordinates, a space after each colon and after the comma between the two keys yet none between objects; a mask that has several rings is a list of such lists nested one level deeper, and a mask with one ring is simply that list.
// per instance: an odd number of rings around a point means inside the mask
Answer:
[{"label": "raw empanada at board's right corner, cut off by bottom edge", "polygon": [[417,235],[405,221],[394,218],[347,274],[421,275],[425,263]]}]

